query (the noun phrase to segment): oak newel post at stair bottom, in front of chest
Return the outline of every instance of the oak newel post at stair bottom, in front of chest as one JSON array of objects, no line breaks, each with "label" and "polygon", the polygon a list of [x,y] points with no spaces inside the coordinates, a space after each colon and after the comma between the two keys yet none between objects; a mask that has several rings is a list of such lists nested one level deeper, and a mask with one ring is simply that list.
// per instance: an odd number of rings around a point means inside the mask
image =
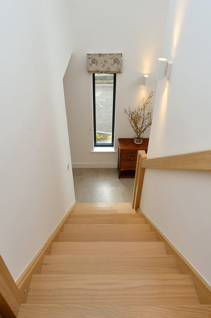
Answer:
[{"label": "oak newel post at stair bottom, in front of chest", "polygon": [[142,160],[147,159],[147,155],[144,150],[138,150],[137,162],[136,162],[136,174],[133,188],[132,208],[137,210],[139,207],[142,186],[144,181],[145,168],[142,168]]}]

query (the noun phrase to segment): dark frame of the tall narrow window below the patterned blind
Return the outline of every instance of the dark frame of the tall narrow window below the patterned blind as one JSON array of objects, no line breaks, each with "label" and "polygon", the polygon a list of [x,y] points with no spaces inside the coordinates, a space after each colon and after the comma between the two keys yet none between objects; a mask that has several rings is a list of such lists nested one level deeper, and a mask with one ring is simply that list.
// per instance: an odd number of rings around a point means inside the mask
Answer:
[{"label": "dark frame of the tall narrow window below the patterned blind", "polygon": [[[94,133],[94,147],[113,147],[114,146],[114,126],[115,126],[115,104],[116,104],[116,81],[117,74],[113,74],[113,113],[112,113],[112,143],[97,143],[96,142],[96,106],[95,106],[95,73],[92,73],[93,82],[93,133]],[[106,74],[106,73],[105,73]]]}]

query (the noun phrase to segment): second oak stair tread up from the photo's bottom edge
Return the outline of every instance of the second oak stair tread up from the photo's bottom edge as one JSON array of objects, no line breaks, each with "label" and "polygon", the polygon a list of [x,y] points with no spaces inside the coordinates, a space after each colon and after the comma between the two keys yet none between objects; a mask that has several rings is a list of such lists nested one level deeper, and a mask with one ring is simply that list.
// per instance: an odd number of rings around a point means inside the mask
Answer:
[{"label": "second oak stair tread up from the photo's bottom edge", "polygon": [[197,305],[191,275],[32,275],[27,303]]}]

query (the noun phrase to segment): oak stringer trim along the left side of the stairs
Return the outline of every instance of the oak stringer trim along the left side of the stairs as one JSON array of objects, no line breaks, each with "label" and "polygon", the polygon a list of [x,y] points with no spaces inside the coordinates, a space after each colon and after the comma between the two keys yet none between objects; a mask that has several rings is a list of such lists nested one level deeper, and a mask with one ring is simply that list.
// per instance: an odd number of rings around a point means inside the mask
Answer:
[{"label": "oak stringer trim along the left side of the stairs", "polygon": [[[35,257],[29,263],[27,268],[21,274],[21,276],[16,280],[16,285],[21,292],[24,303],[26,302],[29,285],[31,282],[31,276],[33,274],[40,274],[42,269],[42,263],[45,255],[51,254],[52,244],[53,242],[58,241],[59,232],[63,231],[64,224],[67,224],[67,219],[69,215],[72,213],[74,208],[76,207],[77,201],[69,208],[65,216],[62,218],[61,222],[57,225],[54,232],[48,237],[46,242],[42,245],[41,249],[37,252]],[[49,252],[50,250],[50,252]],[[26,293],[24,293],[24,289],[26,288]]]}]

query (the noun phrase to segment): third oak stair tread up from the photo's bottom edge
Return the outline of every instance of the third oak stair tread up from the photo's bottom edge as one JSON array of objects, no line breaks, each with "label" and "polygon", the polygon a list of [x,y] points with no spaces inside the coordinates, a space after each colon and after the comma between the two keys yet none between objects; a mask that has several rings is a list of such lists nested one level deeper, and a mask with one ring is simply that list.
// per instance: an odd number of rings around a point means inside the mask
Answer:
[{"label": "third oak stair tread up from the photo's bottom edge", "polygon": [[41,274],[179,274],[176,257],[44,256]]}]

